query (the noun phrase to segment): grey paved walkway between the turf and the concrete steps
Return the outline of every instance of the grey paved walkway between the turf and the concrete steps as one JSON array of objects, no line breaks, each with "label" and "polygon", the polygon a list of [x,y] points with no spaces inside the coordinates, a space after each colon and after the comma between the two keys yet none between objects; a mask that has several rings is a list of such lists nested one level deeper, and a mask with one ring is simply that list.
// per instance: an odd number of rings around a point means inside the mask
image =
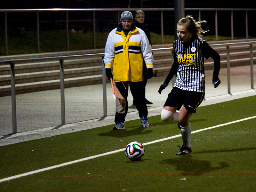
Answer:
[{"label": "grey paved walkway between the turf and the concrete steps", "polygon": [[[250,66],[231,68],[231,94],[228,94],[227,69],[220,69],[221,84],[212,85],[212,70],[205,71],[205,99],[200,106],[256,95],[251,89]],[[171,91],[171,83],[162,92],[157,92],[165,76],[153,77],[146,86],[148,116],[161,113],[164,102]],[[256,66],[254,65],[254,87],[256,87]],[[60,90],[50,90],[16,96],[17,131],[12,133],[11,96],[0,98],[0,146],[34,140],[53,135],[76,132],[104,125],[114,124],[115,100],[111,84],[107,84],[108,116],[103,117],[102,84],[65,89],[66,124],[61,124]],[[132,106],[132,94],[128,94],[127,120],[138,119],[138,111]]]}]

